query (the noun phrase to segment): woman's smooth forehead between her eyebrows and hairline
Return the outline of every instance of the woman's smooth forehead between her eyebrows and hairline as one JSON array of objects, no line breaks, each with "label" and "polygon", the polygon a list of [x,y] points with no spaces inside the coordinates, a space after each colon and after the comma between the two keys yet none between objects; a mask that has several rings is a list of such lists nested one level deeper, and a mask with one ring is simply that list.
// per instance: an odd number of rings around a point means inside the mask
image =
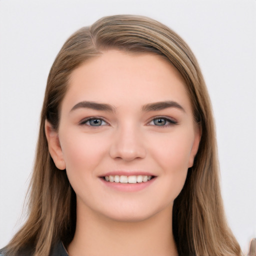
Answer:
[{"label": "woman's smooth forehead between her eyebrows and hairline", "polygon": [[83,100],[116,107],[176,100],[190,107],[185,81],[170,62],[155,53],[119,50],[105,51],[73,70],[62,105]]}]

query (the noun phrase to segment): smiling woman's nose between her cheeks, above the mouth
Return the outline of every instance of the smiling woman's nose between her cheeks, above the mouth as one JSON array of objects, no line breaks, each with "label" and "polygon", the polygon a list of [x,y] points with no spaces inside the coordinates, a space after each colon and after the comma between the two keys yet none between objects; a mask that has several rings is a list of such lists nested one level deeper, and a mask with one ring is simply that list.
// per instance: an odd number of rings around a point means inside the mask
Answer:
[{"label": "smiling woman's nose between her cheeks, above the mouth", "polygon": [[139,127],[127,124],[117,128],[113,135],[113,140],[109,149],[112,158],[132,161],[134,159],[144,158],[146,148],[144,146],[143,136]]}]

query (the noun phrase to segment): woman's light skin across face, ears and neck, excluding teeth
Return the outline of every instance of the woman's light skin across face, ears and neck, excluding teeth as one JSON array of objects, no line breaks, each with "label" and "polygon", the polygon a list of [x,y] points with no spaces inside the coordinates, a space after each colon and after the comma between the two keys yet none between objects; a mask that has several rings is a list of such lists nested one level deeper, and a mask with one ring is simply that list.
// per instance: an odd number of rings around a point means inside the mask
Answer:
[{"label": "woman's light skin across face, ears and neck, excluding teeth", "polygon": [[[75,255],[177,255],[173,200],[193,165],[200,129],[179,72],[150,53],[108,50],[70,77],[49,152],[77,198]],[[109,175],[148,175],[116,183]]]}]

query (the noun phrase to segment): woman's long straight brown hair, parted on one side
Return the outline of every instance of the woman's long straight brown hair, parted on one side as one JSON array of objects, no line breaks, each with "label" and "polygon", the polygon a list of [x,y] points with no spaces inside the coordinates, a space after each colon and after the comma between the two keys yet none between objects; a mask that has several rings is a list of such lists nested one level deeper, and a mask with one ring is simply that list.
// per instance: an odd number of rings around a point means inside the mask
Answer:
[{"label": "woman's long straight brown hair, parted on one side", "polygon": [[194,165],[188,169],[183,189],[174,200],[173,235],[179,255],[241,255],[223,211],[220,195],[215,128],[208,92],[198,63],[186,43],[165,25],[147,17],[103,17],[71,35],[50,69],[37,151],[32,174],[26,222],[5,251],[11,255],[29,248],[45,256],[57,240],[68,244],[76,222],[75,193],[48,152],[44,123],[58,129],[59,107],[71,72],[81,63],[109,48],[154,52],[168,59],[186,81],[194,121],[201,126],[201,140]]}]

